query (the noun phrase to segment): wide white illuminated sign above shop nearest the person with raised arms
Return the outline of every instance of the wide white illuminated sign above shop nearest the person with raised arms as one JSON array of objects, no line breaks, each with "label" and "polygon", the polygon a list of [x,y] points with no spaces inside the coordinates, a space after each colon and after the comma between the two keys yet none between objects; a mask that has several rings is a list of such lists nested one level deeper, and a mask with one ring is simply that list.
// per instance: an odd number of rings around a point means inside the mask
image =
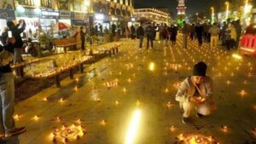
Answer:
[{"label": "wide white illuminated sign above shop nearest the person with raised arms", "polygon": [[18,7],[16,9],[17,17],[39,18],[41,15],[40,9]]}]

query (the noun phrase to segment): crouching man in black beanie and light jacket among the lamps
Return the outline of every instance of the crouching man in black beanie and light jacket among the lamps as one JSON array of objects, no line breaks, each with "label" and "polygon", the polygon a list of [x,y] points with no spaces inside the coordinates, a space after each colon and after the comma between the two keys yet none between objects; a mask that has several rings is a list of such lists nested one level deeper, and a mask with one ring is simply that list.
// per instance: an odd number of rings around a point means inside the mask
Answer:
[{"label": "crouching man in black beanie and light jacket among the lamps", "polygon": [[207,64],[198,62],[194,66],[193,76],[186,78],[177,90],[176,101],[183,109],[183,123],[189,123],[190,112],[196,109],[196,116],[201,118],[211,114],[212,80],[207,77]]}]

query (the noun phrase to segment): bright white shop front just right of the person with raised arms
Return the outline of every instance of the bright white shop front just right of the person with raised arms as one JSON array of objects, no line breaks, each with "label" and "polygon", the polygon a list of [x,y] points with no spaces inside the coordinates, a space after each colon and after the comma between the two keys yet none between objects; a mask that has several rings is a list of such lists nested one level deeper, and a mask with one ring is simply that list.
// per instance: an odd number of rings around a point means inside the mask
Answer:
[{"label": "bright white shop front just right of the person with raised arms", "polygon": [[41,10],[18,6],[16,9],[16,20],[26,21],[26,34],[28,37],[36,37],[34,34],[40,26]]}]

